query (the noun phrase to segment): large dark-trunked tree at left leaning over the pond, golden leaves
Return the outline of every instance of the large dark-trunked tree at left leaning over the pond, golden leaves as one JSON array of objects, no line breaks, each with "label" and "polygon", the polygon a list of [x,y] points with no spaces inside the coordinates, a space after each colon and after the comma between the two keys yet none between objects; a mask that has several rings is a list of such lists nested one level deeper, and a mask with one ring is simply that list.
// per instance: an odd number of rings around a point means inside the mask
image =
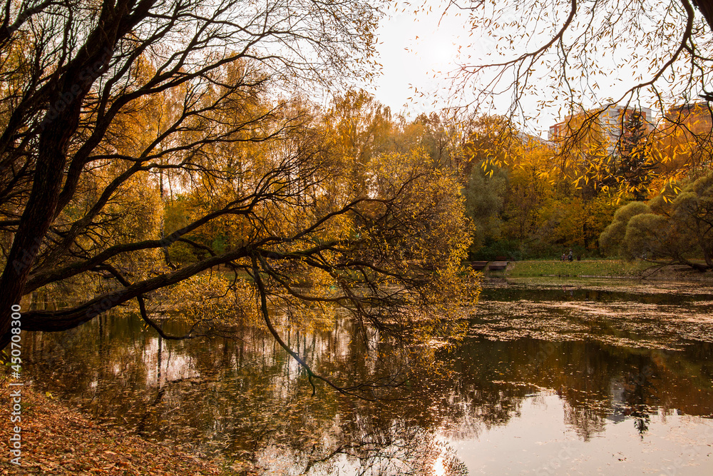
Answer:
[{"label": "large dark-trunked tree at left leaning over the pond, golden leaves", "polygon": [[[217,268],[298,360],[273,306],[343,308],[397,340],[448,327],[470,233],[456,182],[419,153],[339,156],[299,96],[370,76],[379,16],[353,0],[4,1],[0,348],[11,306],[61,286],[69,305],[24,309],[23,330],[133,302],[165,338],[204,333],[164,332],[146,299]],[[178,218],[168,193],[188,203]],[[178,263],[179,246],[198,258]]]}]

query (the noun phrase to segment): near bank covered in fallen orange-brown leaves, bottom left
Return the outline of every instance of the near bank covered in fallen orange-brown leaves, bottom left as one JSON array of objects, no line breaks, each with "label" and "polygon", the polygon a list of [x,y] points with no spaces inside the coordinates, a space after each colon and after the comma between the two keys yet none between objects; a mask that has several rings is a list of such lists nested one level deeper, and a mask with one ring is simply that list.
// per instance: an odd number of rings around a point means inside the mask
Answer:
[{"label": "near bank covered in fallen orange-brown leaves, bottom left", "polygon": [[[0,475],[235,474],[219,457],[100,425],[31,385],[22,387],[21,398],[21,466],[9,462],[5,433],[0,443]],[[6,427],[11,415],[4,378],[0,378],[0,404],[0,421]]]}]

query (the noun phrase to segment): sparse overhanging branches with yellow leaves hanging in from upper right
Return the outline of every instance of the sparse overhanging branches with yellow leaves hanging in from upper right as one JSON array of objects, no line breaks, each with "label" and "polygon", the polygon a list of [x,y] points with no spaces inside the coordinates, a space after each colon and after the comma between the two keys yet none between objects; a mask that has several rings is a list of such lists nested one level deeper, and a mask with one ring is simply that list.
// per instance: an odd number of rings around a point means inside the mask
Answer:
[{"label": "sparse overhanging branches with yellow leaves hanging in from upper right", "polygon": [[[685,129],[699,146],[692,161],[711,165],[710,124],[704,130],[672,106],[713,100],[713,7],[703,0],[451,0],[465,12],[478,48],[453,72],[451,96],[458,107],[510,105],[527,123],[543,108],[569,117],[558,158],[585,176],[609,178],[622,167],[616,147],[595,144],[607,128],[625,130],[627,116],[605,118],[609,106],[651,107],[663,134]],[[612,122],[613,121],[613,122]],[[602,124],[604,122],[604,124]],[[694,131],[695,129],[695,131]],[[665,168],[670,157],[658,157]],[[579,176],[571,178],[582,178]],[[618,184],[633,190],[626,178]]]}]

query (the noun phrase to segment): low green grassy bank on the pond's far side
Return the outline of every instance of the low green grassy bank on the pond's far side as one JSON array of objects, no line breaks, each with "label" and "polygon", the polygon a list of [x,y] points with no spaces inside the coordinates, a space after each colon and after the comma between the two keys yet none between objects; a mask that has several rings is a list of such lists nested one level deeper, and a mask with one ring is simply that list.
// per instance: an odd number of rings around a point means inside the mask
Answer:
[{"label": "low green grassy bank on the pond's far side", "polygon": [[654,266],[642,260],[525,260],[511,261],[504,271],[488,271],[486,276],[501,278],[625,278],[681,280],[713,283],[713,272],[701,273],[684,265]]}]

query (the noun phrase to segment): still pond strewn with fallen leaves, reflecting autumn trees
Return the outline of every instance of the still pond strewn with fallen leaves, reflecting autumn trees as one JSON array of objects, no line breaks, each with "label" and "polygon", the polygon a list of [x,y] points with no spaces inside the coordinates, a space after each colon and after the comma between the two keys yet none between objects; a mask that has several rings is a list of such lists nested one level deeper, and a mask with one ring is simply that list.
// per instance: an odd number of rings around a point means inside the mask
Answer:
[{"label": "still pond strewn with fallen leaves, reflecting autumn trees", "polygon": [[[713,474],[713,288],[486,283],[468,337],[385,400],[344,397],[262,333],[163,340],[104,315],[24,337],[36,386],[104,422],[274,475]],[[346,320],[285,340],[341,383],[364,360]],[[414,369],[411,369],[414,370]],[[240,463],[236,463],[236,468]]]}]

